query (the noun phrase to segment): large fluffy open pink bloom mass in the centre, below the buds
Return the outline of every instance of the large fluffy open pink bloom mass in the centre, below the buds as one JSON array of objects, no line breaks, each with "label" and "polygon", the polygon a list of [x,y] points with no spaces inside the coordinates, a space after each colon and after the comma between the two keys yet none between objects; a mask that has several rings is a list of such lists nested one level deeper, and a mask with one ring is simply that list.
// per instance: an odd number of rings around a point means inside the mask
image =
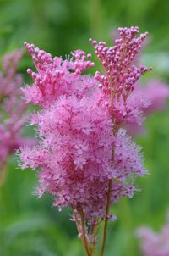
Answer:
[{"label": "large fluffy open pink bloom mass in the centre, below the buds", "polygon": [[38,125],[43,143],[32,150],[23,148],[20,153],[23,168],[41,169],[39,195],[51,193],[59,207],[80,203],[90,222],[105,214],[109,179],[117,179],[111,198],[117,203],[122,196],[134,193],[133,181],[123,184],[123,180],[144,174],[139,147],[125,131],[119,131],[115,139],[108,111],[97,106],[96,99],[63,96],[34,114],[33,124]]}]

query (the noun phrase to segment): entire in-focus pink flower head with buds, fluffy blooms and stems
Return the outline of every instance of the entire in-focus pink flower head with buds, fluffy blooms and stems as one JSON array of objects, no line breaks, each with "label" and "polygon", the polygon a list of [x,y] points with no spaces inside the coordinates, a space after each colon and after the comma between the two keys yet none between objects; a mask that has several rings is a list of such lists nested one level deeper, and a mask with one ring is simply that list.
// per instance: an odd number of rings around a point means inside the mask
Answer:
[{"label": "entire in-focus pink flower head with buds, fluffy blooms and stems", "polygon": [[34,83],[23,92],[26,103],[41,106],[31,116],[40,142],[20,149],[21,166],[40,169],[39,196],[48,192],[59,209],[72,208],[88,256],[95,253],[101,221],[105,223],[103,255],[108,220],[115,220],[111,204],[131,198],[135,177],[146,172],[140,147],[122,127],[127,122],[140,125],[143,109],[149,106],[134,95],[136,81],[149,71],[134,65],[148,33],[136,37],[137,27],[119,31],[113,47],[90,39],[104,75],[83,74],[95,64],[81,50],[63,60],[25,42],[37,72],[28,69]]}]

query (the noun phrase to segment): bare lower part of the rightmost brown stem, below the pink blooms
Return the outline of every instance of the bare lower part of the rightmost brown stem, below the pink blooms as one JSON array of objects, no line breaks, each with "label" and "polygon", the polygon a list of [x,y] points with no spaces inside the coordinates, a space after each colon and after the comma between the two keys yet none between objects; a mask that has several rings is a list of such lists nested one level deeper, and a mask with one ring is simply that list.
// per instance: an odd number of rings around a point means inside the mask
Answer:
[{"label": "bare lower part of the rightmost brown stem, below the pink blooms", "polygon": [[112,189],[112,180],[109,181],[109,185],[108,185],[107,201],[106,201],[105,225],[104,225],[103,242],[102,242],[101,254],[100,254],[101,256],[103,256],[103,253],[105,251],[105,246],[106,246],[106,233],[107,233],[107,226],[108,226],[108,214],[109,214],[110,203],[111,203],[111,189]]}]

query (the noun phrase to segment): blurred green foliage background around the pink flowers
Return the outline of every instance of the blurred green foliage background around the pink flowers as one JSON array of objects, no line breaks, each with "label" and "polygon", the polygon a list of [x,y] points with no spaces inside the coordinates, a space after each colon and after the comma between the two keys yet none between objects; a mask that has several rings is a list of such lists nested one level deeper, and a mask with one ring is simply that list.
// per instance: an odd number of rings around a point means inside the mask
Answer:
[{"label": "blurred green foliage background around the pink flowers", "polygon": [[[23,47],[25,41],[52,55],[65,56],[76,48],[94,53],[90,36],[110,44],[113,29],[138,25],[140,31],[150,32],[144,64],[153,67],[151,76],[169,82],[168,16],[168,0],[0,0],[0,56]],[[32,62],[25,54],[19,71],[26,80],[28,67]],[[150,175],[137,181],[142,192],[114,207],[117,221],[109,226],[106,256],[139,255],[135,229],[150,225],[158,230],[165,221],[169,208],[168,111],[151,115],[145,123],[147,134],[137,138]],[[70,211],[58,213],[49,196],[35,198],[35,184],[35,172],[19,170],[16,158],[11,157],[0,192],[0,255],[84,255],[69,220]]]}]

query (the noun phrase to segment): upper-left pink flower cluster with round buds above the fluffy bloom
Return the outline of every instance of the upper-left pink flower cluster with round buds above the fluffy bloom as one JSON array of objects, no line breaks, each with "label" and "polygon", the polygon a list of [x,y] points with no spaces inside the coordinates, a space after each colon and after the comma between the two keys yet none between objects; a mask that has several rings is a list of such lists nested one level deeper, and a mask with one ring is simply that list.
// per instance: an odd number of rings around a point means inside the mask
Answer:
[{"label": "upper-left pink flower cluster with round buds above the fluffy bloom", "polygon": [[93,86],[94,78],[81,76],[81,73],[95,64],[89,59],[91,55],[85,56],[81,50],[74,51],[70,60],[52,58],[50,53],[40,50],[33,44],[25,42],[32,57],[37,73],[28,69],[32,76],[34,85],[26,86],[24,89],[25,101],[42,106],[51,104],[61,95],[76,94],[81,97],[85,90]]}]

